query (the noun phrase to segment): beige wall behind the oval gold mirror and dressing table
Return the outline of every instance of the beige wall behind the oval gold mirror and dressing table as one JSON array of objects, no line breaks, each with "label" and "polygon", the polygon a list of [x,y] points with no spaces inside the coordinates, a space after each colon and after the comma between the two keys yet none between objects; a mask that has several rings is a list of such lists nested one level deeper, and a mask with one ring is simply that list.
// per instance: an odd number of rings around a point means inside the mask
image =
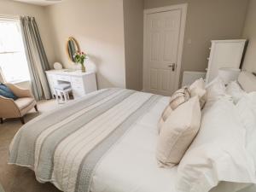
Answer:
[{"label": "beige wall behind the oval gold mirror and dressing table", "polygon": [[76,67],[66,54],[73,36],[88,55],[87,68],[96,67],[99,88],[125,87],[123,1],[67,0],[46,9],[53,29],[56,61]]}]

